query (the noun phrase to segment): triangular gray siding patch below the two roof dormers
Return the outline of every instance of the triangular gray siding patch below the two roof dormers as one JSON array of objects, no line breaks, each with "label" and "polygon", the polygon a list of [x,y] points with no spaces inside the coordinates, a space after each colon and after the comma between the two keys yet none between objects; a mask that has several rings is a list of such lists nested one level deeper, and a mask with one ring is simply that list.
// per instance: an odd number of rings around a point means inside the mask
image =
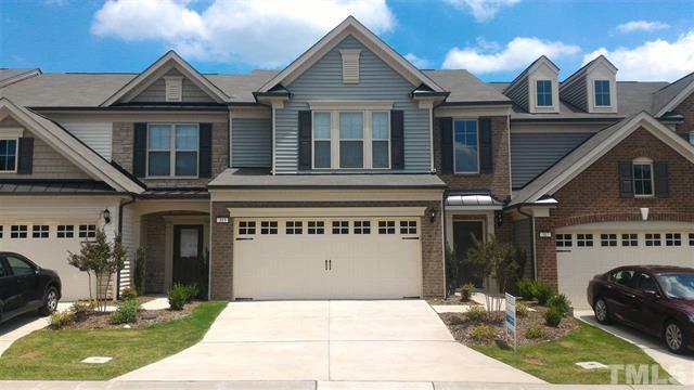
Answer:
[{"label": "triangular gray siding patch below the two roof dormers", "polygon": [[511,133],[513,187],[523,187],[591,135],[592,133]]}]

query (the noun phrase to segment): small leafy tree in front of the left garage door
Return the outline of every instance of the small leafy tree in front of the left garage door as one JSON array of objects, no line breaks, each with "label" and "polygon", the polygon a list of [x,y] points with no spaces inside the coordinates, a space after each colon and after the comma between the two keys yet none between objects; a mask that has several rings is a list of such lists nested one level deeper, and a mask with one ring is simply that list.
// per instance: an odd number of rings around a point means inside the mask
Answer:
[{"label": "small leafy tree in front of the left garage door", "polygon": [[97,301],[99,302],[99,311],[106,310],[107,288],[102,289],[104,282],[107,287],[111,284],[113,275],[120,272],[126,261],[126,248],[123,246],[120,235],[116,235],[113,245],[108,244],[106,234],[102,230],[97,231],[94,240],[86,240],[81,243],[79,253],[68,252],[67,262],[87,272],[89,277],[89,296],[91,298],[91,274],[97,280]]}]

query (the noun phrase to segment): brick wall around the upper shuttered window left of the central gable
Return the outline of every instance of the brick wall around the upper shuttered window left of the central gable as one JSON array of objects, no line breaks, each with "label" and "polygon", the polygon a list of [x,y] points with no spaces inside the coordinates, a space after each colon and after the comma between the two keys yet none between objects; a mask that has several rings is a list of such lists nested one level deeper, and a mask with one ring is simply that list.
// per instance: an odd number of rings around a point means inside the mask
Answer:
[{"label": "brick wall around the upper shuttered window left of the central gable", "polygon": [[[128,172],[132,172],[133,122],[113,123],[112,158]],[[213,122],[213,174],[205,179],[143,179],[151,187],[202,187],[229,167],[229,122]]]}]

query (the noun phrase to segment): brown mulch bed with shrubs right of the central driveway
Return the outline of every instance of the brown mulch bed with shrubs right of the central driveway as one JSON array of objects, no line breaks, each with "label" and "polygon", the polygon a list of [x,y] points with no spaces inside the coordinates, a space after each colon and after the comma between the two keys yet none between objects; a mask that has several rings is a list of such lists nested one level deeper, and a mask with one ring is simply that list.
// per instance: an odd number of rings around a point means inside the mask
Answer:
[{"label": "brown mulch bed with shrubs right of the central driveway", "polygon": [[[531,307],[536,311],[528,311],[528,314],[525,317],[520,317],[520,316],[517,317],[518,346],[535,344],[539,342],[556,340],[561,337],[566,336],[571,330],[578,327],[578,323],[576,322],[576,318],[574,318],[573,316],[565,316],[564,318],[562,318],[562,323],[560,324],[558,327],[545,325],[544,312],[547,311],[547,308],[540,307],[537,304],[529,304],[529,307]],[[496,314],[497,315],[493,316],[494,317],[493,320],[486,318],[483,321],[473,321],[468,318],[465,315],[465,313],[440,313],[439,316],[441,317],[446,326],[448,326],[449,330],[451,332],[455,340],[466,346],[480,346],[480,344],[488,344],[491,342],[501,342],[501,343],[504,342],[504,332],[505,332],[504,323],[503,323],[504,313],[497,312]],[[497,329],[497,338],[494,340],[489,340],[489,341],[479,341],[479,340],[473,339],[471,337],[471,332],[474,327],[478,325],[493,326]],[[526,338],[525,337],[526,330],[529,327],[536,326],[536,325],[542,326],[545,333],[545,337],[541,339]]]}]

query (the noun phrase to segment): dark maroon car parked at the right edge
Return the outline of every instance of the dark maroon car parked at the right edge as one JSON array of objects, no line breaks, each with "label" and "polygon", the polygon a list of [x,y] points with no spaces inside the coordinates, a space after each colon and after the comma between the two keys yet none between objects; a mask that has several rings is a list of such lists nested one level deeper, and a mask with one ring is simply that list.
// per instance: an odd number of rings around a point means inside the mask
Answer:
[{"label": "dark maroon car parked at the right edge", "polygon": [[618,321],[661,337],[672,352],[694,349],[694,269],[620,266],[590,281],[588,302],[601,324]]}]

